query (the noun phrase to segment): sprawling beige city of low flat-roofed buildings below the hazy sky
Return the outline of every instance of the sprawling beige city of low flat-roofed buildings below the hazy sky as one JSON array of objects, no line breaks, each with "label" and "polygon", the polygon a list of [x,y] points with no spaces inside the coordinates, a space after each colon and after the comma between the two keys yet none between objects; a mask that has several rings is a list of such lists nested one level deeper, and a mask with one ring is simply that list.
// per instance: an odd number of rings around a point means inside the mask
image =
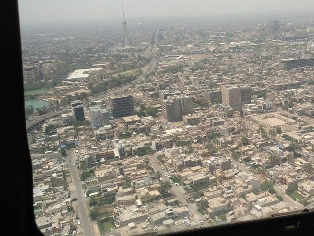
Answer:
[{"label": "sprawling beige city of low flat-roofed buildings below the hazy sky", "polygon": [[122,25],[21,29],[26,100],[51,103],[26,106],[45,235],[314,208],[313,18]]}]

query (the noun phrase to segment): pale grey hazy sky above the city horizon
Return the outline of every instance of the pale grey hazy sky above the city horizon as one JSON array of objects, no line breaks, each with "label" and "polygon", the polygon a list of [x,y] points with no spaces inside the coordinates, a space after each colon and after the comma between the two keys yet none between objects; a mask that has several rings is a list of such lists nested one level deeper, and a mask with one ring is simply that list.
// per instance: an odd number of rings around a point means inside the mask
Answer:
[{"label": "pale grey hazy sky above the city horizon", "polygon": [[23,24],[126,21],[166,16],[309,13],[313,0],[18,0]]}]

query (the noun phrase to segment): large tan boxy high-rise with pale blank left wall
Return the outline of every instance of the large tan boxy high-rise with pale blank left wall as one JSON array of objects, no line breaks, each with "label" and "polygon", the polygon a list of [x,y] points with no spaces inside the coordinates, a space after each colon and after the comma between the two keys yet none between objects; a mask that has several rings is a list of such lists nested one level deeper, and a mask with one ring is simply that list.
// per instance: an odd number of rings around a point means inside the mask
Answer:
[{"label": "large tan boxy high-rise with pale blank left wall", "polygon": [[242,105],[251,103],[252,91],[250,86],[226,85],[222,87],[222,102],[230,105],[235,111],[242,109]]}]

